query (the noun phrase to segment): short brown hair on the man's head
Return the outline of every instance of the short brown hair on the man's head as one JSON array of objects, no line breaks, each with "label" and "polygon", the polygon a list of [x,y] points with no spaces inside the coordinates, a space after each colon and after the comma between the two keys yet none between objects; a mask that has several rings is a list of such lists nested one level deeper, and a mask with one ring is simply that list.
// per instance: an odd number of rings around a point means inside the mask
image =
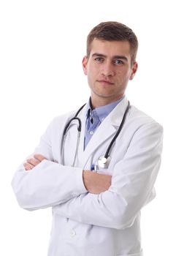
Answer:
[{"label": "short brown hair on the man's head", "polygon": [[138,41],[134,31],[128,26],[116,21],[101,22],[95,26],[87,38],[88,58],[91,52],[91,42],[94,38],[106,41],[128,41],[131,46],[131,65],[136,61]]}]

